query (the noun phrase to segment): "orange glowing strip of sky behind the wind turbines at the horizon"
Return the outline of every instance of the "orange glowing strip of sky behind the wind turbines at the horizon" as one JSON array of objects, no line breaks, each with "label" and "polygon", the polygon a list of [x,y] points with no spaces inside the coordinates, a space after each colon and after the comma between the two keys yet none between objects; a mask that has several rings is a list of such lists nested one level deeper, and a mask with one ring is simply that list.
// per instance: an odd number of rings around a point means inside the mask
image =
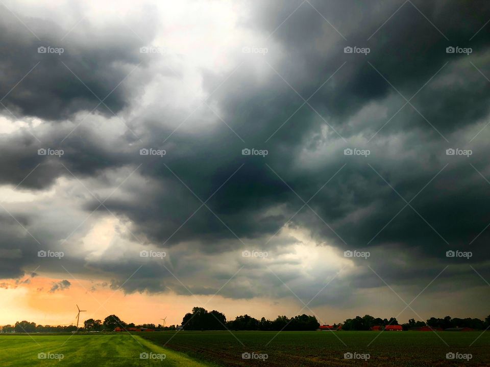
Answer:
[{"label": "orange glowing strip of sky behind the wind turbines at the horizon", "polygon": [[[78,304],[81,309],[87,310],[80,315],[80,325],[87,319],[104,321],[110,314],[116,314],[122,321],[135,324],[158,325],[162,323],[160,319],[167,317],[165,325],[170,326],[179,325],[184,314],[195,306],[202,306],[208,310],[217,309],[224,312],[227,319],[234,319],[238,314],[250,314],[250,310],[265,313],[264,302],[271,302],[264,299],[232,300],[221,296],[211,299],[211,295],[124,294],[108,286],[91,291],[93,282],[78,279],[67,279],[71,283],[68,289],[50,293],[53,283],[60,280],[39,276],[32,278],[29,284],[16,285],[15,281],[12,281],[7,284],[7,289],[0,288],[0,299],[3,300],[0,306],[0,325],[13,325],[21,320],[41,325],[76,324]],[[206,304],[209,299],[211,301]],[[290,305],[276,305],[273,308],[273,313],[291,312]],[[267,315],[254,316],[260,318]]]}]

